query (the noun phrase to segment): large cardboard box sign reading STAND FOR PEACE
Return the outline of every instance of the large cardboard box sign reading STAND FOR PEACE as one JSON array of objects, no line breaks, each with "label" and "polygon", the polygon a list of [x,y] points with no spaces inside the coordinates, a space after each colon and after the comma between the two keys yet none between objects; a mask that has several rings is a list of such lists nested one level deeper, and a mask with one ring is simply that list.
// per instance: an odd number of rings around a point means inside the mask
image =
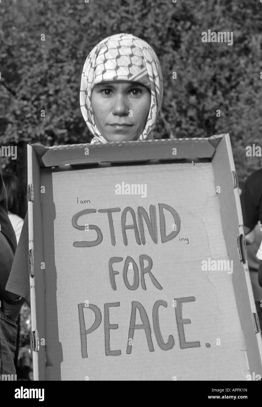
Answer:
[{"label": "large cardboard box sign reading STAND FOR PEACE", "polygon": [[[262,374],[229,139],[187,143],[28,148],[35,379]],[[127,164],[146,145],[169,161]]]}]

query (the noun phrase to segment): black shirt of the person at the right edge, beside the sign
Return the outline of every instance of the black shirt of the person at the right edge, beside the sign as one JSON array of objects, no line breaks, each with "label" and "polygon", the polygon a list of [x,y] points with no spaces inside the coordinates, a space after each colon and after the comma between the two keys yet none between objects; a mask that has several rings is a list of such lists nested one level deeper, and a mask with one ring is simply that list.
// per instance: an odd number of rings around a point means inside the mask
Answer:
[{"label": "black shirt of the person at the right edge, beside the sign", "polygon": [[258,221],[262,223],[262,169],[247,178],[240,201],[244,226],[253,230]]}]

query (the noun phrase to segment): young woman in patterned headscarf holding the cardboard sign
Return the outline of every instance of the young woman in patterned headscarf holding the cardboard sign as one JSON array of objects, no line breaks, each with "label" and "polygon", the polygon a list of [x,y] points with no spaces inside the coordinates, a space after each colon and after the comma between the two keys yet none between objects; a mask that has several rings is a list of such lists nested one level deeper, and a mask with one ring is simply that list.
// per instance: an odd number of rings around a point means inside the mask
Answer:
[{"label": "young woman in patterned headscarf holding the cardboard sign", "polygon": [[[162,97],[162,72],[149,44],[132,34],[104,39],[88,55],[81,79],[80,108],[91,144],[152,138]],[[21,297],[30,298],[27,214],[6,294],[2,312],[16,320]]]}]

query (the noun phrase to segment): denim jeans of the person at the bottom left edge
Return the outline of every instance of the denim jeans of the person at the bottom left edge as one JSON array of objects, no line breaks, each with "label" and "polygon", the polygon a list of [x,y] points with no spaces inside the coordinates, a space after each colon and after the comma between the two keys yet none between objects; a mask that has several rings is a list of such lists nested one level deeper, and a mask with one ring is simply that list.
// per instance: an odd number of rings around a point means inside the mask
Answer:
[{"label": "denim jeans of the person at the bottom left edge", "polygon": [[14,357],[17,324],[6,317],[0,308],[0,374],[16,374]]}]

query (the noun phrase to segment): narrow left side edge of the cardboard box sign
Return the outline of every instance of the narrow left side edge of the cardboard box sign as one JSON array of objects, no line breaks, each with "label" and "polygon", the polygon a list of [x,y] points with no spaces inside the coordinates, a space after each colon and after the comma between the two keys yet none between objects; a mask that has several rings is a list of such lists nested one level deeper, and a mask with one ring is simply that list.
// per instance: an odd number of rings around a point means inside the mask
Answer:
[{"label": "narrow left side edge of the cardboard box sign", "polygon": [[[34,149],[28,155],[28,261],[30,271],[31,345],[34,380],[45,380],[45,290],[40,167]],[[36,249],[35,249],[36,248]],[[36,301],[37,298],[37,301]],[[43,341],[44,339],[44,341]]]}]

